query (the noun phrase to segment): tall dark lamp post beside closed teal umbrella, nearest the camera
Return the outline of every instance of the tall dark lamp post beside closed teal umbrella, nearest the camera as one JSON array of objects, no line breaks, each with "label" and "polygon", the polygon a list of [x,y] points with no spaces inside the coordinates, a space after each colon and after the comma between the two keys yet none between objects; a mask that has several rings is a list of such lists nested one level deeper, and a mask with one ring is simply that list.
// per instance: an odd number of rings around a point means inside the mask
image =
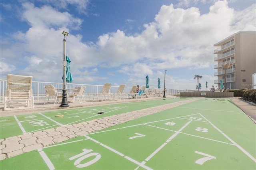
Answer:
[{"label": "tall dark lamp post beside closed teal umbrella, nearest the camera", "polygon": [[67,99],[67,90],[66,90],[66,66],[67,66],[67,61],[66,61],[66,40],[65,36],[68,36],[68,32],[62,32],[64,35],[64,40],[63,40],[63,93],[62,93],[62,101],[60,104],[60,107],[69,107],[68,105],[68,99]]}]

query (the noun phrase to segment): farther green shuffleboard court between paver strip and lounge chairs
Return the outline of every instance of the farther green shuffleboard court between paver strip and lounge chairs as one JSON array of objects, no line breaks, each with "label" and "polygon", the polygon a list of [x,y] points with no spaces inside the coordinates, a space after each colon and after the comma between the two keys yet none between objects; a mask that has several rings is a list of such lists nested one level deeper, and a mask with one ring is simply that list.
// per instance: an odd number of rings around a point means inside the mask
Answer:
[{"label": "farther green shuffleboard court between paver strip and lounge chairs", "polygon": [[[10,117],[0,117],[0,138],[8,138],[18,136],[20,134],[27,134],[40,130],[50,128],[62,127],[74,123],[85,122],[101,117],[118,115],[139,109],[146,109],[168,103],[187,100],[190,98],[177,97],[169,98],[166,100],[150,100],[150,101],[137,101],[114,105],[104,105],[95,107],[85,107],[77,109],[65,109],[58,111],[51,111],[45,113],[34,113],[29,115],[17,115]],[[104,114],[98,114],[103,111]],[[55,117],[56,115],[63,115],[63,117]]]}]

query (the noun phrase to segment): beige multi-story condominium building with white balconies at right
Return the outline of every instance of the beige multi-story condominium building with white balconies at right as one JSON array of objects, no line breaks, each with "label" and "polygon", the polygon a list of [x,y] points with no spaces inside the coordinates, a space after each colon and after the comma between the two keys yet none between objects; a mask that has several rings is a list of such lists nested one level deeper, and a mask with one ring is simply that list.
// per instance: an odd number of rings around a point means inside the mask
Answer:
[{"label": "beige multi-story condominium building with white balconies at right", "polygon": [[[252,75],[256,73],[256,31],[240,31],[214,44],[217,57],[214,69],[223,80],[225,89],[252,89]],[[226,76],[226,77],[225,77]],[[226,78],[226,79],[225,79]],[[225,82],[226,81],[226,82]]]}]

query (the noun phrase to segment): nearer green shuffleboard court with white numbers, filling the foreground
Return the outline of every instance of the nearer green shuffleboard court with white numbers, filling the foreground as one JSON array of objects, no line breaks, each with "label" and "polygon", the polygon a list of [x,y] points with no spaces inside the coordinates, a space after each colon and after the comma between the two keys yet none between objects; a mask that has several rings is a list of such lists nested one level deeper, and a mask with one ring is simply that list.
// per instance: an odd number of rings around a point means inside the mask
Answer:
[{"label": "nearer green shuffleboard court with white numbers, filling the foreground", "polygon": [[201,99],[0,161],[1,169],[255,170],[256,125]]}]

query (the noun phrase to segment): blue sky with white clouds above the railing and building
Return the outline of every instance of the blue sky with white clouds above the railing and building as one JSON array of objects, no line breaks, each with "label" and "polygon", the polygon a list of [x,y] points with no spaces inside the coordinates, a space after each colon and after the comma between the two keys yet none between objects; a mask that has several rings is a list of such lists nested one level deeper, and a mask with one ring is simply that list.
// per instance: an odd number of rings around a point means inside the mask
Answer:
[{"label": "blue sky with white clouds above the railing and building", "polygon": [[[255,0],[1,0],[0,79],[61,83],[65,36],[77,84],[208,90],[214,44],[256,31]],[[166,74],[165,74],[166,70]]]}]

